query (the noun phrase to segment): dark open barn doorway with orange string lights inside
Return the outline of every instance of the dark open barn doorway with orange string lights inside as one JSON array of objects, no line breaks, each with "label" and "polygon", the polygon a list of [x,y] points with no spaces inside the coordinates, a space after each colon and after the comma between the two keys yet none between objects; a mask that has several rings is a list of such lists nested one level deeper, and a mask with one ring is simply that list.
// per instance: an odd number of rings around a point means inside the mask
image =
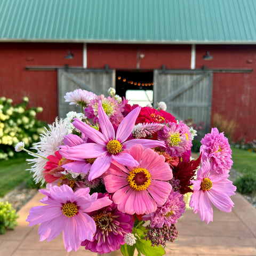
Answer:
[{"label": "dark open barn doorway with orange string lights inside", "polygon": [[153,71],[117,71],[116,94],[125,97],[131,105],[153,105]]}]

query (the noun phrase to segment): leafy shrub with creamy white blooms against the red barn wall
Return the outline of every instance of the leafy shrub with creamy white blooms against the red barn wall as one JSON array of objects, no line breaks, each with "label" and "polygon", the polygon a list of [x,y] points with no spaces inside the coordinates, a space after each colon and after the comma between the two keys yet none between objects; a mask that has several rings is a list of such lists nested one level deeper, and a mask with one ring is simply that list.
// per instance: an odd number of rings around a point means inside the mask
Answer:
[{"label": "leafy shrub with creamy white blooms against the red barn wall", "polygon": [[22,103],[12,106],[12,99],[0,98],[0,159],[14,156],[14,146],[24,141],[31,147],[39,140],[45,122],[38,121],[36,114],[43,111],[41,107],[28,108],[28,98]]}]

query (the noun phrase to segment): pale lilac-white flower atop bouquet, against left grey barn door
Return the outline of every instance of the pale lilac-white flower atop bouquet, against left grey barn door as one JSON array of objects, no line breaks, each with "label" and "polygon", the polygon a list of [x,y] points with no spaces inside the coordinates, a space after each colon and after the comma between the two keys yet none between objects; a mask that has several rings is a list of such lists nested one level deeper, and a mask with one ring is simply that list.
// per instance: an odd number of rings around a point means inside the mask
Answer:
[{"label": "pale lilac-white flower atop bouquet, against left grey barn door", "polygon": [[77,89],[73,92],[67,92],[64,96],[66,102],[70,102],[69,105],[80,105],[86,107],[90,103],[91,99],[94,99],[97,95],[93,92],[89,92],[82,89]]}]

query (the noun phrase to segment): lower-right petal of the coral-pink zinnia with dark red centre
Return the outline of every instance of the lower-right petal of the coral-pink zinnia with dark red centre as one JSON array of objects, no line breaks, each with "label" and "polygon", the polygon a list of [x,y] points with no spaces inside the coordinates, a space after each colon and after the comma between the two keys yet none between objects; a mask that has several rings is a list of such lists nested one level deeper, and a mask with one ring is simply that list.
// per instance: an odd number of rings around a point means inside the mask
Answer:
[{"label": "lower-right petal of the coral-pink zinnia with dark red centre", "polygon": [[147,188],[148,193],[154,198],[157,204],[163,205],[170,192],[172,185],[169,182],[160,180],[151,180],[151,184]]}]

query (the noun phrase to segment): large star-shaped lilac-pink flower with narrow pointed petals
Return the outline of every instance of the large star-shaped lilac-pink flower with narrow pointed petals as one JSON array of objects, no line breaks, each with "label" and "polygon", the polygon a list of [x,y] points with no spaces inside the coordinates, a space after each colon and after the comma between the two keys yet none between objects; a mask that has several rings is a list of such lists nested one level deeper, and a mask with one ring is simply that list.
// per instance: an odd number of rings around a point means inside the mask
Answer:
[{"label": "large star-shaped lilac-pink flower with narrow pointed petals", "polygon": [[119,124],[115,132],[113,125],[101,106],[101,101],[99,101],[98,113],[102,133],[84,122],[75,119],[73,122],[74,126],[82,131],[82,133],[86,134],[93,142],[83,143],[74,147],[61,146],[60,154],[65,158],[76,161],[96,158],[91,165],[89,180],[98,178],[105,173],[110,166],[110,162],[113,160],[127,166],[138,165],[138,162],[135,161],[130,154],[123,151],[124,149],[129,149],[131,146],[138,143],[140,143],[143,148],[164,146],[162,141],[147,139],[127,140],[131,135],[139,112],[140,107],[131,111],[131,113],[123,119],[121,124]]}]

